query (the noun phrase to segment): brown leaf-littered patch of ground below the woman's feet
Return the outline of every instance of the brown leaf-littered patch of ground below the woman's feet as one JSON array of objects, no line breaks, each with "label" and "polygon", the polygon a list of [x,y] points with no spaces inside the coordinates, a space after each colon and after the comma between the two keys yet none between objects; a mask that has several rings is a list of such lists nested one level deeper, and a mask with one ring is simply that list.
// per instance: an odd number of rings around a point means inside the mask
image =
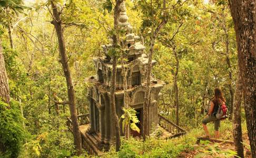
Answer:
[{"label": "brown leaf-littered patch of ground below the woman's feet", "polygon": [[[221,136],[220,139],[232,141],[232,138],[227,139],[224,135]],[[243,142],[244,144],[249,144],[248,135],[246,133],[243,134]],[[185,150],[180,153],[179,157],[234,157],[234,151],[234,144],[225,141],[216,143],[208,140],[201,140],[200,143],[194,145],[193,150]],[[244,146],[244,155],[245,157],[251,157],[250,151],[246,145]]]}]

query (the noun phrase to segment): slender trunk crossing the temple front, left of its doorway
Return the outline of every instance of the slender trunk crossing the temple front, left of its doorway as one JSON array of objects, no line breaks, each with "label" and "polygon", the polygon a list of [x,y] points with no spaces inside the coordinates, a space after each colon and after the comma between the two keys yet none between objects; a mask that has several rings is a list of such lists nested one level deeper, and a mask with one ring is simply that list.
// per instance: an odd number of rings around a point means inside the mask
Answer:
[{"label": "slender trunk crossing the temple front, left of its doorway", "polygon": [[[114,8],[114,29],[116,34],[113,35],[113,47],[117,47],[119,44],[119,36],[118,36],[118,24],[119,24],[119,16],[120,16],[120,5],[124,3],[124,0],[116,0],[115,8]],[[111,76],[111,87],[110,87],[110,104],[111,104],[111,111],[113,115],[113,124],[115,127],[115,151],[118,152],[121,146],[121,137],[120,137],[120,125],[119,125],[119,118],[116,114],[116,107],[115,107],[115,80],[116,80],[116,54],[112,56],[112,76]]]}]

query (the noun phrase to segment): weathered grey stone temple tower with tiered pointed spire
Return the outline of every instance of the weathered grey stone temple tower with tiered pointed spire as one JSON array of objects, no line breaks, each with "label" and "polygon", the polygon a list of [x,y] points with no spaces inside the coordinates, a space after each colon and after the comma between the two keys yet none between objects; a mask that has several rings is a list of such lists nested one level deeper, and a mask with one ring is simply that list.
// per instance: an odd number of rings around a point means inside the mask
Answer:
[{"label": "weathered grey stone temple tower with tiered pointed spire", "polygon": [[[121,5],[121,13],[119,17],[119,25],[126,31],[125,40],[121,41],[122,46],[126,47],[126,62],[125,69],[127,71],[127,93],[129,106],[134,108],[137,112],[137,117],[140,123],[137,126],[140,128],[141,133],[130,131],[133,136],[140,136],[142,134],[143,126],[143,102],[146,85],[146,66],[149,64],[147,55],[145,53],[145,46],[140,36],[135,35],[132,32],[132,26],[128,22],[126,15],[126,8],[124,2]],[[93,58],[96,70],[96,76],[90,77],[92,86],[88,91],[88,100],[90,101],[90,128],[87,130],[87,135],[90,135],[91,139],[95,141],[97,147],[102,149],[109,148],[109,145],[115,142],[115,129],[112,123],[112,111],[110,106],[110,86],[112,75],[112,62],[107,52],[112,47],[112,44],[102,45],[102,56]],[[152,65],[155,65],[156,61],[152,61]],[[157,104],[159,101],[159,92],[163,87],[163,82],[151,78],[151,105],[149,110],[149,129],[154,129],[158,122]],[[122,76],[122,65],[117,64],[116,75],[116,91],[115,91],[115,103],[116,113],[120,117],[123,113],[124,107],[124,83]],[[122,123],[120,123],[121,135],[124,135],[122,131]],[[152,131],[151,131],[152,132]]]}]

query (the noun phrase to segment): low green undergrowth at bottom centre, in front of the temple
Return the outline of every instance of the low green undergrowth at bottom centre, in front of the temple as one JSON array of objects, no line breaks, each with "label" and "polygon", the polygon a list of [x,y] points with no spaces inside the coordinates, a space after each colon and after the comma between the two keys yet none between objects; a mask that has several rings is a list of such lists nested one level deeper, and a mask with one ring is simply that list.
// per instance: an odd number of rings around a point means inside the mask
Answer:
[{"label": "low green undergrowth at bottom centre, in front of the temple", "polygon": [[131,138],[123,140],[119,152],[112,147],[103,157],[176,157],[184,150],[193,150],[195,141],[195,137],[189,135],[171,140],[151,137],[145,142]]}]

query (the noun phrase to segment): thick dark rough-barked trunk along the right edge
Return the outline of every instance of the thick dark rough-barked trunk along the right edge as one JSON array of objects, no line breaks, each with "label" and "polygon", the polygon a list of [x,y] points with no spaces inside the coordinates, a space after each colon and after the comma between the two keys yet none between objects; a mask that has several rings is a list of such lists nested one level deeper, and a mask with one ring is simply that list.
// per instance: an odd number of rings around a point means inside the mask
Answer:
[{"label": "thick dark rough-barked trunk along the right edge", "polygon": [[252,157],[256,157],[256,4],[229,0],[242,73],[244,108]]}]

